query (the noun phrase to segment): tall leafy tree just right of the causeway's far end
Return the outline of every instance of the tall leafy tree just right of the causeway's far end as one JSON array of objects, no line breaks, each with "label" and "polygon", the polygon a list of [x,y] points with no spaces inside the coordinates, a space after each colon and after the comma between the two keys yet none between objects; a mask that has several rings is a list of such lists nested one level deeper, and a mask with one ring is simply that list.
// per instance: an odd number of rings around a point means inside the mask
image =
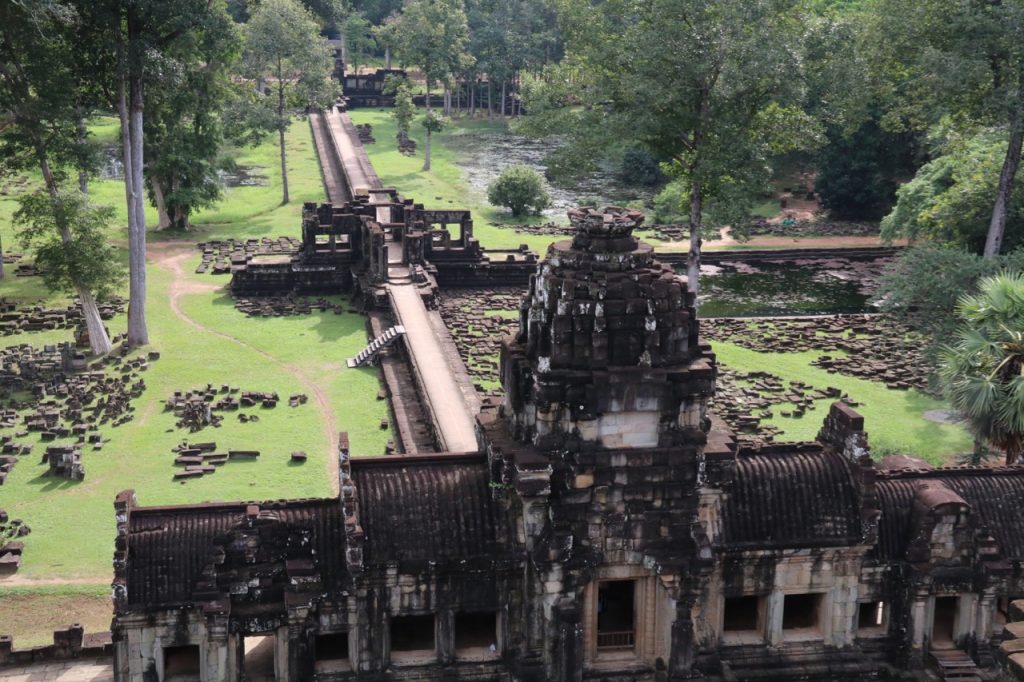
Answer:
[{"label": "tall leafy tree just right of the causeway's far end", "polygon": [[402,65],[423,71],[428,112],[431,87],[462,73],[473,58],[466,51],[469,28],[462,0],[406,0],[401,13],[378,30],[378,38]]}]

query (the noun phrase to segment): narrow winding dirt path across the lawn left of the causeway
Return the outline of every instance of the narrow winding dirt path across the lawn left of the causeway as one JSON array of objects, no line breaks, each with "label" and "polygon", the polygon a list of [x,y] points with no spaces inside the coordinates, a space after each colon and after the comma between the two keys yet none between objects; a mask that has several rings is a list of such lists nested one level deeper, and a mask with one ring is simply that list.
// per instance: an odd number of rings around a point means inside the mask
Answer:
[{"label": "narrow winding dirt path across the lawn left of the causeway", "polygon": [[260,350],[259,348],[256,348],[239,338],[230,336],[229,334],[224,334],[223,332],[210,329],[209,327],[189,317],[184,310],[181,309],[181,297],[186,294],[212,293],[220,289],[220,287],[212,284],[196,282],[195,280],[188,278],[183,264],[184,261],[186,261],[195,252],[196,247],[194,244],[181,242],[162,242],[158,244],[158,248],[150,249],[148,255],[151,260],[153,260],[158,267],[169,270],[174,275],[171,283],[169,299],[171,312],[174,313],[174,316],[186,325],[195,328],[197,331],[203,332],[204,334],[212,334],[213,336],[230,341],[231,343],[238,344],[254,353],[257,353],[261,357],[264,357],[268,361],[276,365],[285,372],[295,377],[296,381],[302,385],[303,389],[305,389],[305,391],[313,397],[313,407],[316,410],[316,414],[321,418],[321,423],[324,424],[324,435],[330,443],[330,450],[327,457],[328,478],[331,481],[331,489],[337,494],[339,489],[337,459],[338,424],[335,419],[334,410],[331,408],[331,401],[328,399],[327,392],[315,381],[310,379],[301,368],[288,363],[283,363],[266,351]]}]

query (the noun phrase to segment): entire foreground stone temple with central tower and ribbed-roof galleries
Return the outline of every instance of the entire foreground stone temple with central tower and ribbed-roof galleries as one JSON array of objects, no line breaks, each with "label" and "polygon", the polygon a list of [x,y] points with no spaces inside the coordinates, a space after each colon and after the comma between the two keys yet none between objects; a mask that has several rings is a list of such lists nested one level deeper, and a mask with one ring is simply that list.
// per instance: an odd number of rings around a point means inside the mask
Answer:
[{"label": "entire foreground stone temple with central tower and ribbed-roof galleries", "polygon": [[350,458],[316,500],[115,504],[119,680],[863,680],[995,665],[1024,468],[738,447],[639,213],[570,213],[478,452]]}]

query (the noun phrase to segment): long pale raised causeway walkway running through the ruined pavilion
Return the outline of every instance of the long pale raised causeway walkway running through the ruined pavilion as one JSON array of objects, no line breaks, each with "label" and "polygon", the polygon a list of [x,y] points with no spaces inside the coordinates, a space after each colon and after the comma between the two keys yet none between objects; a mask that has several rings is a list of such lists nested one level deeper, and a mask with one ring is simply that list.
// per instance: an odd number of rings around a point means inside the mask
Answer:
[{"label": "long pale raised causeway walkway running through the ruined pavilion", "polygon": [[[313,136],[325,169],[328,196],[334,197],[369,194],[371,203],[375,189],[383,184],[374,170],[366,150],[359,142],[355,126],[346,114],[332,111],[311,120]],[[319,132],[317,133],[317,129]],[[334,159],[326,158],[330,153]],[[340,177],[339,177],[340,176]],[[344,187],[332,187],[344,182]],[[382,198],[388,201],[388,198]],[[391,222],[390,208],[378,209],[378,222]],[[420,297],[420,290],[413,283],[409,266],[402,262],[401,245],[388,243],[388,299],[395,323],[406,328],[406,348],[420,385],[425,411],[430,415],[434,433],[442,452],[476,452],[476,418],[478,398],[468,379],[465,365],[454,344],[440,314],[429,310]]]}]

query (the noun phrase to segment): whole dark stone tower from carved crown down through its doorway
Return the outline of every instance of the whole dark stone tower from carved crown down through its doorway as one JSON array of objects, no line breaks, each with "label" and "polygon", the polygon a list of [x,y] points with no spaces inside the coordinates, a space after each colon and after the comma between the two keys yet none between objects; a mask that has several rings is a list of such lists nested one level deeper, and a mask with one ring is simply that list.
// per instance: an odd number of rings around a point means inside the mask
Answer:
[{"label": "whole dark stone tower from carved crown down through its doorway", "polygon": [[536,591],[510,633],[523,666],[538,656],[520,679],[682,679],[712,558],[699,508],[720,466],[706,458],[715,357],[685,282],[633,237],[641,213],[569,219],[503,344],[504,404],[480,417]]}]

